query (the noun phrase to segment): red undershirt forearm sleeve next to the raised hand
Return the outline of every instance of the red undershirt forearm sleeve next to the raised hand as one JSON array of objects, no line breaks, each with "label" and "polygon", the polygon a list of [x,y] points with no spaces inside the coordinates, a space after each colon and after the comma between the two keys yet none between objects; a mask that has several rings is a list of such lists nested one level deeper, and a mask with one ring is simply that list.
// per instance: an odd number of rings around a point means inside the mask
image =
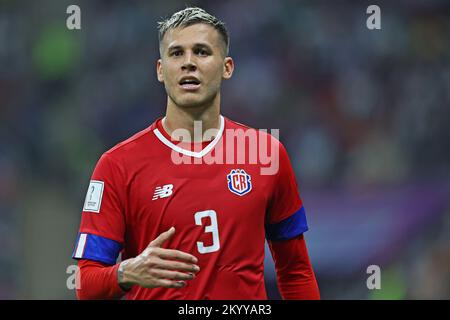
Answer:
[{"label": "red undershirt forearm sleeve next to the raised hand", "polygon": [[119,264],[108,266],[81,259],[78,261],[78,267],[80,268],[80,288],[77,289],[79,300],[120,299],[126,293],[117,282]]}]

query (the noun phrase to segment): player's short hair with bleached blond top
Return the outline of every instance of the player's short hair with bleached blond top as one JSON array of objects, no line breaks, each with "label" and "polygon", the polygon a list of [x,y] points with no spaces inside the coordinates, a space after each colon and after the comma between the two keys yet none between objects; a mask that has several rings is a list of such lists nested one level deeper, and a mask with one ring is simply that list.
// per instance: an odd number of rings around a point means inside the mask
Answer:
[{"label": "player's short hair with bleached blond top", "polygon": [[219,32],[225,43],[225,55],[228,55],[230,50],[230,36],[225,23],[198,7],[187,7],[186,9],[175,12],[170,18],[158,22],[159,43],[161,44],[168,30],[178,27],[185,28],[197,23],[213,26]]}]

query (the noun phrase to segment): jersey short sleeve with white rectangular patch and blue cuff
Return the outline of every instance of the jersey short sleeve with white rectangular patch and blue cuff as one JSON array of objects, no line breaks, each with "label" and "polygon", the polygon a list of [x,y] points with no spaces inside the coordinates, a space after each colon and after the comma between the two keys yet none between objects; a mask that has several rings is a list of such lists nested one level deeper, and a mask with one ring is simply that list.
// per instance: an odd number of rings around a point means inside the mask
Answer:
[{"label": "jersey short sleeve with white rectangular patch and blue cuff", "polygon": [[116,263],[125,234],[124,193],[123,170],[103,154],[89,182],[72,258]]}]

